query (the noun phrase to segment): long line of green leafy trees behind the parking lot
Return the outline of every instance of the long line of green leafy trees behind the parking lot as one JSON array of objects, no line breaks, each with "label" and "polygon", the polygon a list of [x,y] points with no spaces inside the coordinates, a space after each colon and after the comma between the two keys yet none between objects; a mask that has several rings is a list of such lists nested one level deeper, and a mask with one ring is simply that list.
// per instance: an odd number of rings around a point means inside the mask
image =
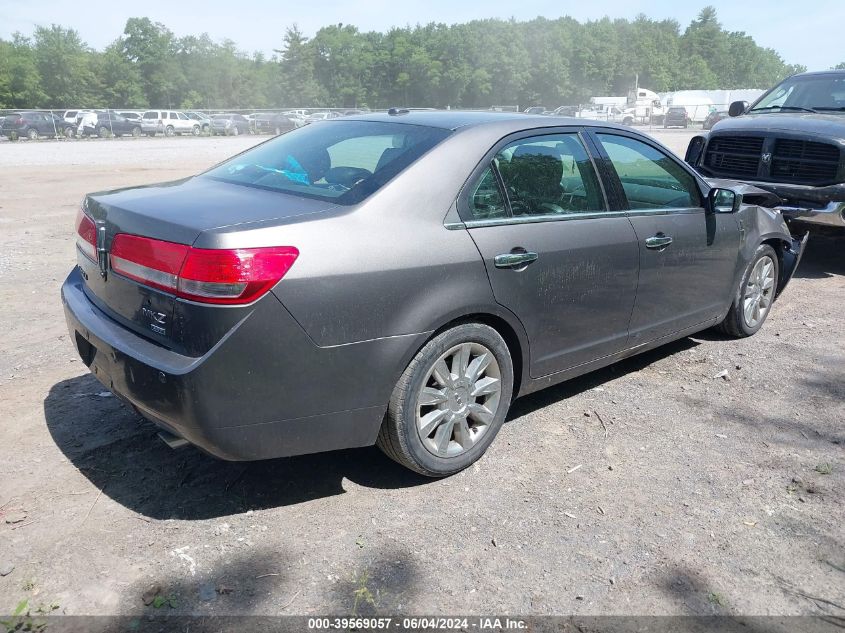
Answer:
[{"label": "long line of green leafy trees behind the parking lot", "polygon": [[639,85],[658,92],[767,88],[805,70],[706,7],[675,20],[570,17],[361,32],[336,24],[306,38],[286,29],[269,58],[207,34],[177,37],[130,18],[104,50],[73,29],[0,39],[0,108],[432,106],[585,103]]}]

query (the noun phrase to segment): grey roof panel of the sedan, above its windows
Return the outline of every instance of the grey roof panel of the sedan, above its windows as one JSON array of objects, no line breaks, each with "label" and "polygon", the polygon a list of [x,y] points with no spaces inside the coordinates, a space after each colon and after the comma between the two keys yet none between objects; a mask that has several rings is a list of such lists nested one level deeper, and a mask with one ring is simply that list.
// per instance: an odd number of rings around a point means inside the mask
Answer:
[{"label": "grey roof panel of the sedan, above its windows", "polygon": [[489,112],[473,110],[399,110],[396,114],[387,112],[356,114],[343,117],[344,121],[381,121],[404,123],[407,125],[424,125],[444,130],[457,130],[466,127],[483,125],[501,125],[510,123],[514,130],[538,127],[560,127],[568,125],[589,125],[590,127],[607,127],[629,130],[621,125],[577,119],[574,117],[531,115],[524,112]]}]

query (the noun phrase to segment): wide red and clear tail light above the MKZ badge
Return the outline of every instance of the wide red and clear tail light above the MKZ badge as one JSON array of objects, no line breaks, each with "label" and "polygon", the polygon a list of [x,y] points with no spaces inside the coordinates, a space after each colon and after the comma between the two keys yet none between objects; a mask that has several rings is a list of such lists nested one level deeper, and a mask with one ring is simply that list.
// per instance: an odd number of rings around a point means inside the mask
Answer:
[{"label": "wide red and clear tail light above the MKZ badge", "polygon": [[112,242],[111,266],[183,299],[245,304],[275,286],[298,256],[293,246],[204,249],[122,233]]}]

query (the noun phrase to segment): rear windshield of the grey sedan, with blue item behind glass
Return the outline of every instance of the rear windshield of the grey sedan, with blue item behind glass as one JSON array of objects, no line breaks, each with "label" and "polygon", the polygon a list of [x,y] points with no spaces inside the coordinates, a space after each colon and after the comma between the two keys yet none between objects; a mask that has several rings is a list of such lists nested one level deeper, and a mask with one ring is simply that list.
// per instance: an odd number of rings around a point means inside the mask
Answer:
[{"label": "rear windshield of the grey sedan, with blue item behind glass", "polygon": [[448,130],[419,125],[326,121],[279,136],[205,175],[354,204],[377,191],[448,135]]}]

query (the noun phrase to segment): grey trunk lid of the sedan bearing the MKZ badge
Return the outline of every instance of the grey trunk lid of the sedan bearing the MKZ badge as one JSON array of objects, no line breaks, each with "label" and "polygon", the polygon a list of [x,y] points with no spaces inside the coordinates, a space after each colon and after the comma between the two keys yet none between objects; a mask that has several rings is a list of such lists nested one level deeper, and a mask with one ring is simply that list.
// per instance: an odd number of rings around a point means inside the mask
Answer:
[{"label": "grey trunk lid of the sedan bearing the MKZ badge", "polygon": [[[121,233],[190,246],[205,231],[285,223],[336,206],[253,187],[245,197],[244,189],[200,176],[89,195],[84,211],[95,224],[100,261],[81,251],[77,257],[89,299],[116,321],[168,348],[190,355],[207,351],[249,306],[221,308],[177,299],[116,273],[109,254]],[[186,328],[189,323],[203,327]]]}]

